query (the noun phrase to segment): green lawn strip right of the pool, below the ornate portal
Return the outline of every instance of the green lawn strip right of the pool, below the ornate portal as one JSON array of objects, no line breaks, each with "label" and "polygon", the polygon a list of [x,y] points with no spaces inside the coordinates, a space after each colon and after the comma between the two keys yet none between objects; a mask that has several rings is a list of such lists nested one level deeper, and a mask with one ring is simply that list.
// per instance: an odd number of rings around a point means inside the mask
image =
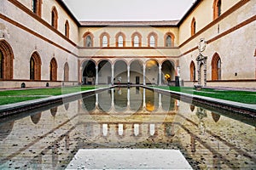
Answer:
[{"label": "green lawn strip right of the pool, below the ornate portal", "polygon": [[189,87],[154,87],[162,88],[166,90],[172,90],[175,92],[182,92],[186,94],[195,94],[201,96],[207,96],[216,99],[226,99],[230,101],[236,101],[246,104],[256,104],[256,92],[247,91],[233,91],[233,90],[220,90],[220,89],[210,89],[203,88],[200,91],[195,90],[195,88]]}]

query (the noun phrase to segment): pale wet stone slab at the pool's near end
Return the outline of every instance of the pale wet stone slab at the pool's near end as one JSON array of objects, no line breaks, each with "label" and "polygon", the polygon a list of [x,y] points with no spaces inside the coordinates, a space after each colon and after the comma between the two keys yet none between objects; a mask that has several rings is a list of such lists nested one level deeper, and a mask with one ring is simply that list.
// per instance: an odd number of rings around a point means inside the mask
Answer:
[{"label": "pale wet stone slab at the pool's near end", "polygon": [[72,169],[193,169],[180,150],[80,149]]}]

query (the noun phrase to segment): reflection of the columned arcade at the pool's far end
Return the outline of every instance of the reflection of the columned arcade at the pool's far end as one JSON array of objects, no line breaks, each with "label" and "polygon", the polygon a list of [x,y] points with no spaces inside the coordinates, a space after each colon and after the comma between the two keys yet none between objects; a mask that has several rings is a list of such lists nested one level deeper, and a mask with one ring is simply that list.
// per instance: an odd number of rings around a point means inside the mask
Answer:
[{"label": "reflection of the columned arcade at the pool's far end", "polygon": [[[82,99],[83,111],[113,113],[169,113],[178,109],[178,101],[145,88],[112,88],[108,92]],[[81,108],[81,107],[79,107]]]}]

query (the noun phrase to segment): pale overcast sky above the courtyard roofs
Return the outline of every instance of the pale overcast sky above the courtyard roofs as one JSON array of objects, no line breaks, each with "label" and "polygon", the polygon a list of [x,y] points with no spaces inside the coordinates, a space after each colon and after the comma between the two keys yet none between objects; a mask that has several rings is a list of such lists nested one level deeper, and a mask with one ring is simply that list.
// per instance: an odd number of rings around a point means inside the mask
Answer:
[{"label": "pale overcast sky above the courtyard roofs", "polygon": [[63,0],[78,20],[180,20],[195,0]]}]

